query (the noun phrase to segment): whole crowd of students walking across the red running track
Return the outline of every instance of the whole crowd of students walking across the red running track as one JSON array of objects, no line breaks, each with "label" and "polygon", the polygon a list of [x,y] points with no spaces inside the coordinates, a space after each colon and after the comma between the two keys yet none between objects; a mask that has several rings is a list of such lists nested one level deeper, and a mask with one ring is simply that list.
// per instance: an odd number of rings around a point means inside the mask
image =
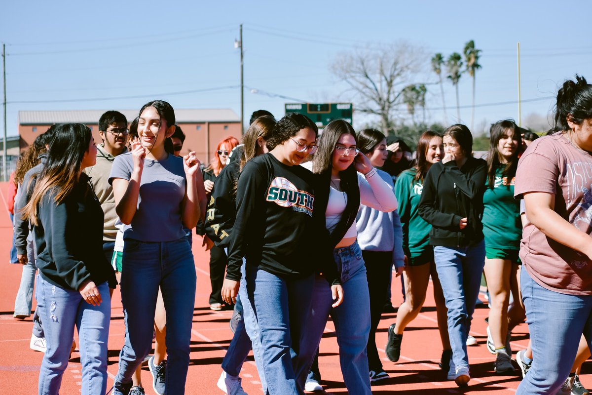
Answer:
[{"label": "whole crowd of students walking across the red running track", "polygon": [[224,139],[204,169],[195,152],[178,156],[184,134],[160,100],[145,104],[130,129],[108,111],[99,133],[97,146],[82,124],[52,126],[15,174],[24,265],[15,317],[30,316],[38,269],[31,348],[45,353],[39,394],[59,392],[75,326],[81,391],[106,393],[117,285],[126,332],[111,393],[143,394],[144,362],[157,394],[185,393],[194,231],[212,251],[210,308],[234,309],[217,383],[224,393],[246,394],[240,370],[251,349],[264,393],[322,390],[318,346],[331,316],[349,393],[371,394],[372,382],[389,377],[375,332],[393,268],[405,297],[388,329],[391,361],[431,277],[440,367],[468,385],[466,346],[484,274],[494,371],[514,372],[511,330],[526,319],[517,393],[587,393],[578,378],[592,341],[592,85],[584,78],[559,89],[549,136],[494,123],[487,160],[474,158],[462,124],[425,131],[411,155],[375,129],[356,133],[335,120],[320,134],[304,115],[276,121],[257,111],[243,144]]}]

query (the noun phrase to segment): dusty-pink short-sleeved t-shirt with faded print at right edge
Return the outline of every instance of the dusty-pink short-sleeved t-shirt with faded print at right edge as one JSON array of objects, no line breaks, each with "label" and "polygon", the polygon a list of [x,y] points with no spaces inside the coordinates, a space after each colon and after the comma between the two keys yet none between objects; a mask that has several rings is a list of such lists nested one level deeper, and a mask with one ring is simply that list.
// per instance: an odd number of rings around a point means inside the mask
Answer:
[{"label": "dusty-pink short-sleeved t-shirt with faded print at right edge", "polygon": [[[522,198],[527,192],[554,194],[555,212],[592,234],[592,155],[572,144],[567,135],[537,139],[523,153],[514,197]],[[592,295],[592,261],[545,236],[532,223],[522,232],[520,259],[542,287],[562,294]]]}]

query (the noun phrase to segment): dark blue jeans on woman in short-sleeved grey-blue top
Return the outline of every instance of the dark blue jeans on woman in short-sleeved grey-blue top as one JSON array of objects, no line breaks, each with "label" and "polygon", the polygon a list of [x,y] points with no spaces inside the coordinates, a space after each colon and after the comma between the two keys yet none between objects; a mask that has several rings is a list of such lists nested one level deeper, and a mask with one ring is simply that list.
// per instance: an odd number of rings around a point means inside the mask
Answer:
[{"label": "dark blue jeans on woman in short-sleeved grey-blue top", "polygon": [[166,310],[166,393],[184,394],[195,304],[195,265],[184,236],[172,242],[127,239],[123,247],[121,303],[126,341],[119,355],[116,383],[131,375],[152,349],[158,288]]}]

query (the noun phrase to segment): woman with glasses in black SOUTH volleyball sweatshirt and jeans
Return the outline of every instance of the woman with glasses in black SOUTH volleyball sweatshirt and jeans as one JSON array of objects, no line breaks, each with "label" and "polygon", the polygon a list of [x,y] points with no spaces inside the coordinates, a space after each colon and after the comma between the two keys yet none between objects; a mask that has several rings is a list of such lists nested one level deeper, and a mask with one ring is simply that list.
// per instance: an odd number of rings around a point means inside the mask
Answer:
[{"label": "woman with glasses in black SOUTH volleyball sweatshirt and jeans", "polygon": [[300,354],[314,272],[322,271],[331,284],[334,306],[343,298],[336,268],[316,264],[323,218],[314,215],[313,175],[298,166],[316,151],[317,134],[304,115],[286,115],[274,127],[269,153],[246,163],[237,184],[222,298],[234,303],[240,285],[244,325],[271,395],[303,392],[310,360]]}]

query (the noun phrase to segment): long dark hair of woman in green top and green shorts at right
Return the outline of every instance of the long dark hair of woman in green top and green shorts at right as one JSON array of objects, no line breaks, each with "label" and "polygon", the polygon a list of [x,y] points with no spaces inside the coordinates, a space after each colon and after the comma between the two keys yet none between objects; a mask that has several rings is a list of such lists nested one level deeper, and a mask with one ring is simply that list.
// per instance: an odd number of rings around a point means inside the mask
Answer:
[{"label": "long dark hair of woman in green top and green shorts at right", "polygon": [[[497,149],[497,146],[501,137],[506,136],[506,132],[508,130],[511,130],[512,132],[512,140],[517,140],[520,142],[520,128],[517,126],[514,120],[507,119],[497,121],[491,125],[491,129],[489,131],[491,137],[489,140],[489,152],[487,154],[487,186],[491,189],[493,189],[494,182],[496,181],[496,169],[501,165],[501,154]],[[511,179],[516,176],[519,152],[519,149],[516,148],[516,151],[512,154],[511,158],[508,159],[506,167],[501,172],[501,175],[507,179],[506,185],[508,188],[510,187]]]}]

